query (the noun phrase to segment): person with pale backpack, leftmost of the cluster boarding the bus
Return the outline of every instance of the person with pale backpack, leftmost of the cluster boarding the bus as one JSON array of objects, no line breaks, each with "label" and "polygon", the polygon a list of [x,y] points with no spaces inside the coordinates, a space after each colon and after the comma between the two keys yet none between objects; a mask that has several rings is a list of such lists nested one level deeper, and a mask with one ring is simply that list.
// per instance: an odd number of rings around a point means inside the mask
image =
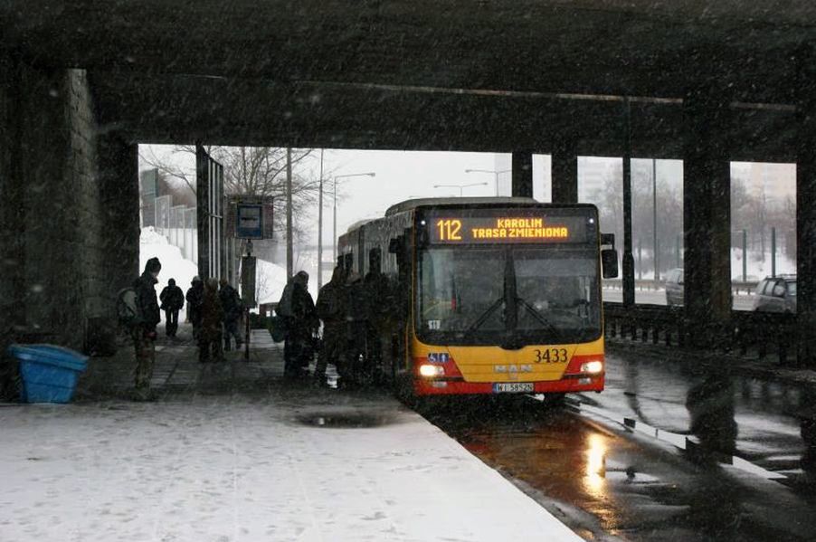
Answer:
[{"label": "person with pale backpack, leftmost of the cluster boarding the bus", "polygon": [[308,273],[299,271],[283,290],[278,303],[278,316],[286,326],[286,342],[283,346],[283,376],[299,378],[313,354],[314,334],[318,329],[315,302],[308,293]]}]

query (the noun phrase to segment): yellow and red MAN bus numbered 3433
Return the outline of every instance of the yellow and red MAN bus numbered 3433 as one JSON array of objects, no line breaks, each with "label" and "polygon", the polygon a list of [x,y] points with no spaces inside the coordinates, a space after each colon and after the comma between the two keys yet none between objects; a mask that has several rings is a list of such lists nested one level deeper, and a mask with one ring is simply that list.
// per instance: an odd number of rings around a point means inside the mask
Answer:
[{"label": "yellow and red MAN bus numbered 3433", "polygon": [[617,254],[594,205],[409,200],[353,226],[339,247],[361,275],[382,261],[395,325],[381,370],[403,392],[603,390],[601,277],[617,276]]}]

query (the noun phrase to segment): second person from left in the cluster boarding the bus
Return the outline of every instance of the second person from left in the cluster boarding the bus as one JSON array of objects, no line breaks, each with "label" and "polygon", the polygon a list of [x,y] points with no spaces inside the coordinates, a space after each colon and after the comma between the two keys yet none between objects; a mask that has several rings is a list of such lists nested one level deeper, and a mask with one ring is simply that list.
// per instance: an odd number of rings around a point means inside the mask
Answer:
[{"label": "second person from left in the cluster boarding the bus", "polygon": [[315,366],[315,385],[325,386],[326,368],[329,363],[337,367],[340,371],[340,355],[343,353],[345,344],[345,325],[343,318],[343,287],[346,284],[346,275],[339,265],[331,274],[331,281],[328,281],[318,293],[317,312],[319,319],[323,320],[323,345],[318,352],[318,365]]}]

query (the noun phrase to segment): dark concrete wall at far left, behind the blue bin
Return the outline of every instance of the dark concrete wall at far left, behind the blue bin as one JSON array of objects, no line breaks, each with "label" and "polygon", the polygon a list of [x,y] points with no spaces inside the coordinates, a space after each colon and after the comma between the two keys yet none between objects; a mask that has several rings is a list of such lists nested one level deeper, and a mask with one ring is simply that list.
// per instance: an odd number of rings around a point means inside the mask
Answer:
[{"label": "dark concrete wall at far left, behind the blue bin", "polygon": [[4,345],[81,348],[138,272],[136,146],[100,130],[85,71],[0,62]]}]

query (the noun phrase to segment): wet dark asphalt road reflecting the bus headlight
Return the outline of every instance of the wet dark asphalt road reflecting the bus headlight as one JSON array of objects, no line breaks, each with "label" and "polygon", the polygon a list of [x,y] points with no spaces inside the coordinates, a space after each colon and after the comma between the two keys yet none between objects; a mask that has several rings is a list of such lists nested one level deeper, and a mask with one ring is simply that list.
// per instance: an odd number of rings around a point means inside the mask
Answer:
[{"label": "wet dark asphalt road reflecting the bus headlight", "polygon": [[607,359],[606,391],[565,406],[499,397],[422,414],[586,539],[816,539],[816,447],[802,439],[816,394]]}]

